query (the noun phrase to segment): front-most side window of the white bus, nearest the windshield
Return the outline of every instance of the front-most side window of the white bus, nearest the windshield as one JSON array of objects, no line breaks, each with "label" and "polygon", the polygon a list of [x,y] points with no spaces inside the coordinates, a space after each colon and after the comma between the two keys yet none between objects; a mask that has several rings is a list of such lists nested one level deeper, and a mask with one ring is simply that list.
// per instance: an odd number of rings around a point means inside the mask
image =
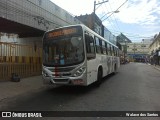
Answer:
[{"label": "front-most side window of the white bus, nearest the windshield", "polygon": [[95,58],[94,39],[91,35],[85,34],[87,59]]}]

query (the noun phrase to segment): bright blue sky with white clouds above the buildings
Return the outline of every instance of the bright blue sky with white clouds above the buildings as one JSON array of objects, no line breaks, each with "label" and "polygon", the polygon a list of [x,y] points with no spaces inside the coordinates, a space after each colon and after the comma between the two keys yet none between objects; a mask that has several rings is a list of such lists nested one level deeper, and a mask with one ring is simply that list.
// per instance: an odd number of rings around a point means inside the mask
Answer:
[{"label": "bright blue sky with white clouds above the buildings", "polygon": [[[51,1],[73,16],[91,14],[94,9],[94,0]],[[103,1],[107,0],[96,0],[95,13],[112,34],[123,33],[132,42],[141,42],[160,32],[160,0],[108,0],[98,5]]]}]

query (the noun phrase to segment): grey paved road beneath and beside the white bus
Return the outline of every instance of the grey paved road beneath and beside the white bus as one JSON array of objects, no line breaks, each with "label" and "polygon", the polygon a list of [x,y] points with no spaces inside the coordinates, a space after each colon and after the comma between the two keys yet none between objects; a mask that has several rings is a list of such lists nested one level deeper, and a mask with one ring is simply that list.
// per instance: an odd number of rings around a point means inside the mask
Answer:
[{"label": "grey paved road beneath and beside the white bus", "polygon": [[147,64],[129,63],[106,77],[98,88],[38,89],[1,102],[0,110],[160,111],[160,71]]}]

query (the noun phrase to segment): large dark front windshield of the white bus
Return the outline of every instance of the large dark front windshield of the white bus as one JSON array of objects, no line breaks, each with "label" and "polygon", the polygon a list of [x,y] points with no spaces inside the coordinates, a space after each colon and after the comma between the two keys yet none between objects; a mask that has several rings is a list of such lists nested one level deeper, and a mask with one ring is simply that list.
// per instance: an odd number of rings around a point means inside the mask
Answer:
[{"label": "large dark front windshield of the white bus", "polygon": [[82,35],[62,35],[43,40],[43,65],[69,66],[83,62]]}]

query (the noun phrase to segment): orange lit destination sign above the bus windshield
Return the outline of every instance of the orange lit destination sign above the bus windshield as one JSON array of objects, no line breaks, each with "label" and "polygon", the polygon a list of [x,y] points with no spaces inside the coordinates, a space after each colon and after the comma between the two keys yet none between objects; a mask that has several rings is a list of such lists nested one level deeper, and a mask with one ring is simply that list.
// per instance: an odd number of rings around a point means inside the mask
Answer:
[{"label": "orange lit destination sign above the bus windshield", "polygon": [[76,28],[59,29],[48,33],[48,38],[59,37],[77,33]]}]

